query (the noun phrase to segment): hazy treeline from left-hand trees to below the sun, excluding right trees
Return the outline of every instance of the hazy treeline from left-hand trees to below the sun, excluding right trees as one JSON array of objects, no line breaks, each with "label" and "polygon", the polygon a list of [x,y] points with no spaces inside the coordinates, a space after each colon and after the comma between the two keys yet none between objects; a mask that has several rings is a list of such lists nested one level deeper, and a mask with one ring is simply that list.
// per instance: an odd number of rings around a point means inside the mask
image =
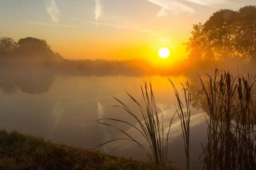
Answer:
[{"label": "hazy treeline from left-hand trees to below the sun, excluding right trees", "polygon": [[[117,60],[67,60],[53,52],[46,40],[26,37],[15,42],[10,37],[0,37],[0,66],[7,69],[47,69],[53,74],[71,75],[168,75],[180,69],[156,66],[143,59]],[[35,71],[34,71],[35,72]],[[41,72],[41,70],[40,70]]]}]

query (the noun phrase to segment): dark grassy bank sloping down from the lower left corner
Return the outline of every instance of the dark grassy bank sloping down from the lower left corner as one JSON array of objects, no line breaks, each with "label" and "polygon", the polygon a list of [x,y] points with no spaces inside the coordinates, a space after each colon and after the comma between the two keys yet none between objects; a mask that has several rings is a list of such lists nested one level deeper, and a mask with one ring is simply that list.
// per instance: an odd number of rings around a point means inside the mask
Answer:
[{"label": "dark grassy bank sloping down from the lower left corner", "polygon": [[1,170],[177,170],[0,130]]}]

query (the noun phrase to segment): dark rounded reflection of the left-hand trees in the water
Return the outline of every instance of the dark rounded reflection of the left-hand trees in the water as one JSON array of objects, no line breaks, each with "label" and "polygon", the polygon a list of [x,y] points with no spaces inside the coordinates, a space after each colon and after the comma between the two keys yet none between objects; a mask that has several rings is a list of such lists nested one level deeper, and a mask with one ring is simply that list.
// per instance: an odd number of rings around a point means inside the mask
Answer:
[{"label": "dark rounded reflection of the left-hand trees in the water", "polygon": [[0,70],[0,88],[11,94],[20,89],[29,94],[48,92],[54,76],[46,68],[19,68]]}]

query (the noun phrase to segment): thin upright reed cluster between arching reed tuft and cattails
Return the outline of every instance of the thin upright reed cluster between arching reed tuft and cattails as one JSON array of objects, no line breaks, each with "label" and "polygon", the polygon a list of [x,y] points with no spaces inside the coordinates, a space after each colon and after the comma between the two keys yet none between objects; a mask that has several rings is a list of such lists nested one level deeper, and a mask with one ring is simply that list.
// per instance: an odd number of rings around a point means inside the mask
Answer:
[{"label": "thin upright reed cluster between arching reed tuft and cattails", "polygon": [[[172,83],[170,79],[169,81]],[[175,104],[175,107],[176,107],[177,114],[180,118],[180,124],[182,128],[183,141],[184,141],[184,147],[185,147],[185,153],[186,153],[186,169],[189,170],[189,123],[190,123],[190,111],[191,111],[191,92],[189,89],[188,81],[187,81],[187,86],[188,86],[187,89],[184,87],[182,83],[180,84],[182,85],[183,91],[184,91],[184,98],[186,102],[185,106],[183,105],[183,102],[180,99],[180,95],[173,83],[172,83],[172,86],[175,90],[175,96],[178,103],[177,106]]]}]

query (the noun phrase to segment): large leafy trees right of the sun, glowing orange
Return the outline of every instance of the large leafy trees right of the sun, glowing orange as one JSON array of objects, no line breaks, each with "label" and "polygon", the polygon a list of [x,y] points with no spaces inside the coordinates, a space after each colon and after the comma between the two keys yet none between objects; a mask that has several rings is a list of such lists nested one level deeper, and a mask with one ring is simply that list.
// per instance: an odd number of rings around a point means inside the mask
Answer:
[{"label": "large leafy trees right of the sun, glowing orange", "polygon": [[186,43],[189,59],[256,60],[256,6],[245,6],[239,11],[221,9],[206,23],[194,25],[191,33]]}]

